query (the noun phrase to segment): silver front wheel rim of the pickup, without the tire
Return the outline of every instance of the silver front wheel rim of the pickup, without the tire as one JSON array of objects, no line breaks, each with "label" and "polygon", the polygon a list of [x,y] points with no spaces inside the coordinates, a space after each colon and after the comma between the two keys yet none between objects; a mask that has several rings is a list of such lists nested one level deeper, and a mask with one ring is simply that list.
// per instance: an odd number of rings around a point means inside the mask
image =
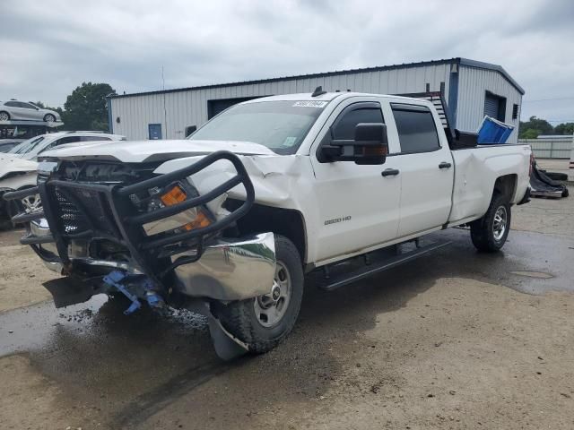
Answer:
[{"label": "silver front wheel rim of the pickup, without the tire", "polygon": [[269,294],[256,297],[254,302],[257,322],[271,328],[281,322],[291,301],[291,274],[283,262],[275,265],[273,288]]}]

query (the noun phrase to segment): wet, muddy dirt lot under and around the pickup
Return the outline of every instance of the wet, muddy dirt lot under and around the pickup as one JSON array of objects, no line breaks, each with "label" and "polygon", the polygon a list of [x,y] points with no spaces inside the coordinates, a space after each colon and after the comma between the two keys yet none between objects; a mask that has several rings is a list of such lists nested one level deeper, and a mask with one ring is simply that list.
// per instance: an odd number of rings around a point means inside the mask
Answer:
[{"label": "wet, muddy dirt lot under and around the pickup", "polygon": [[194,315],[39,303],[52,273],[3,233],[0,427],[574,428],[572,213],[534,200],[504,253],[453,229],[417,262],[309,285],[291,337],[230,364]]}]

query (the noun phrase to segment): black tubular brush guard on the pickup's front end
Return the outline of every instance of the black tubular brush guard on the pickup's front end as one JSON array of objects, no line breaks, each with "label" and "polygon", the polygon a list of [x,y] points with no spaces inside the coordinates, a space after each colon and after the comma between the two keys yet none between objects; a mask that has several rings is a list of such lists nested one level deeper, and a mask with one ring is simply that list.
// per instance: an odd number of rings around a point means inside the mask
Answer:
[{"label": "black tubular brush guard on the pickup's front end", "polygon": [[[134,205],[130,200],[130,195],[183,181],[187,176],[195,175],[200,170],[222,159],[230,161],[237,174],[210,192],[156,211],[134,214]],[[155,235],[160,237],[146,236],[143,232],[144,224],[203,205],[237,185],[243,185],[245,188],[245,202],[238,209],[230,212],[226,217],[214,221],[209,226],[181,233]],[[71,240],[92,237],[109,239],[124,245],[139,267],[158,282],[161,282],[161,278],[165,274],[179,265],[199,259],[204,237],[230,227],[237,219],[247,214],[255,201],[255,190],[247,170],[237,155],[226,150],[213,152],[186,168],[180,168],[135,184],[99,185],[69,182],[57,178],[39,179],[38,186],[5,193],[4,199],[17,200],[38,193],[43,211],[19,213],[13,217],[13,222],[22,223],[45,218],[48,220],[51,236],[35,236],[30,232],[27,236],[22,237],[22,245],[31,245],[40,258],[49,260],[48,256],[42,253],[39,245],[55,243],[59,260],[63,264],[65,272],[71,263],[68,254],[68,245]],[[71,219],[72,223],[70,222]],[[189,245],[188,249],[196,247],[196,255],[179,257],[169,265],[168,269],[163,268],[159,271],[158,256],[170,255],[170,246],[187,241],[193,241],[195,244]],[[182,251],[180,248],[178,250]]]}]

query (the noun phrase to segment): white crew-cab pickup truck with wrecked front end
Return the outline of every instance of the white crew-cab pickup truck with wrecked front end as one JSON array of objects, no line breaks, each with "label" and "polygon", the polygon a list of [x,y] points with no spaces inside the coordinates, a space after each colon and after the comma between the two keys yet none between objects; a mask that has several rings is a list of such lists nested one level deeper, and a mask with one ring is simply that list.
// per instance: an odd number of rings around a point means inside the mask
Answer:
[{"label": "white crew-cab pickup truck with wrecked front end", "polygon": [[[5,198],[41,196],[43,211],[16,220],[66,275],[48,288],[57,306],[106,293],[128,297],[128,313],[203,309],[221,357],[262,353],[291,331],[310,271],[337,288],[461,225],[481,251],[504,245],[511,206],[528,201],[530,148],[477,146],[428,99],[255,99],[187,140],[49,151],[38,188]],[[381,252],[397,244],[413,249]]]}]

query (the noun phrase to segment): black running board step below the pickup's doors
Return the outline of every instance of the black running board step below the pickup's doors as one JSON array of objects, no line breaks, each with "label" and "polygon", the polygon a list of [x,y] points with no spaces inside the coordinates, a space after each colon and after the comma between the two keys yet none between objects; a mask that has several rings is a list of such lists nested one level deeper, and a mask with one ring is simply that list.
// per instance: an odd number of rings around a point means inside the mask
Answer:
[{"label": "black running board step below the pickup's doors", "polygon": [[429,254],[431,251],[435,251],[443,246],[450,245],[451,243],[452,241],[432,242],[429,245],[417,247],[413,249],[413,251],[409,251],[404,254],[396,254],[382,258],[378,261],[370,262],[370,264],[364,265],[360,269],[338,273],[337,275],[324,280],[319,284],[319,288],[332,291],[336,288],[344,287],[345,285],[357,280],[362,280],[363,278],[367,278],[368,276],[377,274],[381,271],[392,269],[404,262],[411,262],[415,258],[422,257],[422,255]]}]

